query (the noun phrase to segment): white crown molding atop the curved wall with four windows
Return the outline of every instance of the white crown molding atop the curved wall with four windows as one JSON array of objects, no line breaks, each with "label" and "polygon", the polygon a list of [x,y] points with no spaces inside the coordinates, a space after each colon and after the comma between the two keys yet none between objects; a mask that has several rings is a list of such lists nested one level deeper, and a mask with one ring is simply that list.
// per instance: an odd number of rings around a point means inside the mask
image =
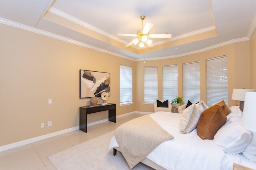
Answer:
[{"label": "white crown molding atop the curved wall with four windows", "polygon": [[136,59],[136,61],[162,60],[162,59],[171,59],[171,58],[176,58],[176,57],[183,57],[183,56],[186,56],[186,55],[201,53],[201,52],[204,52],[204,51],[207,51],[207,50],[210,50],[210,49],[215,49],[215,48],[218,48],[218,47],[222,47],[224,45],[229,45],[229,44],[232,44],[232,43],[238,43],[238,42],[241,42],[241,41],[248,41],[248,40],[250,40],[248,37],[242,37],[242,38],[232,39],[232,40],[226,41],[224,43],[219,43],[219,44],[216,44],[216,45],[212,45],[212,46],[206,47],[204,49],[200,49],[200,50],[196,50],[196,51],[190,51],[188,53],[183,53],[183,54],[179,54],[179,55],[170,55],[170,56],[159,57],[159,58]]}]

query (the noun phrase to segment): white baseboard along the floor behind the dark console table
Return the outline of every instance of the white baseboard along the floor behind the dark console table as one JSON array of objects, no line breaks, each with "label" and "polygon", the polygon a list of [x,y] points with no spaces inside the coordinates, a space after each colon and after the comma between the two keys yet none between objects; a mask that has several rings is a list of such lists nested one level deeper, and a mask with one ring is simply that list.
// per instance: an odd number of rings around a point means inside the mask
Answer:
[{"label": "white baseboard along the floor behind the dark console table", "polygon": [[[118,115],[118,116],[116,116],[116,118],[132,115],[132,114],[138,113],[138,112],[140,112],[140,111],[132,111],[132,112],[125,113],[125,114],[122,114],[122,115]],[[146,114],[146,112],[140,112],[140,114]],[[87,127],[92,126],[92,125],[96,125],[96,124],[99,124],[99,123],[103,123],[103,122],[106,122],[106,121],[108,121],[108,119],[94,121],[94,122],[88,123]],[[20,147],[20,146],[23,146],[23,145],[27,145],[27,144],[30,144],[30,143],[33,143],[33,142],[41,141],[43,139],[47,139],[47,138],[50,138],[50,137],[62,135],[64,133],[76,131],[76,130],[79,130],[79,126],[71,127],[69,129],[64,129],[62,131],[57,131],[57,132],[49,133],[49,134],[38,136],[38,137],[33,137],[33,138],[30,138],[30,139],[26,139],[24,141],[19,141],[19,142],[11,143],[11,144],[8,144],[8,145],[4,145],[4,146],[0,147],[0,152],[2,152],[4,150]]]}]

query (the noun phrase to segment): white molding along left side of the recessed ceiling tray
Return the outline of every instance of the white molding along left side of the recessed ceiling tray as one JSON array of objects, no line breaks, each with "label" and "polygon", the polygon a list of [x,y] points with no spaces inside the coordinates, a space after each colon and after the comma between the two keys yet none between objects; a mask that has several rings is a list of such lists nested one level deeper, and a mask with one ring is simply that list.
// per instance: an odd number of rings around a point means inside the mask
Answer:
[{"label": "white molding along left side of the recessed ceiling tray", "polygon": [[120,43],[128,44],[127,41],[124,41],[123,39],[120,39],[120,38],[118,38],[118,37],[116,37],[116,36],[114,36],[114,35],[112,35],[112,34],[106,32],[106,31],[103,31],[102,29],[99,29],[99,28],[97,28],[97,27],[94,27],[93,25],[90,25],[89,23],[86,23],[86,22],[84,22],[84,21],[82,21],[82,20],[79,20],[78,18],[75,18],[75,17],[73,17],[73,16],[70,16],[70,15],[68,15],[68,14],[66,14],[66,13],[64,13],[64,12],[62,12],[62,11],[60,11],[60,10],[57,10],[56,8],[50,7],[50,8],[48,9],[48,11],[49,11],[49,12],[52,12],[53,14],[56,14],[56,15],[62,17],[62,18],[65,18],[65,19],[67,19],[67,20],[70,20],[70,21],[72,21],[72,22],[74,22],[74,23],[77,23],[77,24],[79,24],[79,25],[82,25],[83,27],[86,27],[86,28],[88,28],[88,29],[91,29],[91,30],[93,30],[93,31],[95,31],[95,32],[97,32],[97,33],[100,33],[100,34],[102,34],[102,35],[105,35],[106,37],[109,37],[109,38],[111,38],[111,39],[114,39],[114,40],[116,40],[116,41],[119,41]]}]

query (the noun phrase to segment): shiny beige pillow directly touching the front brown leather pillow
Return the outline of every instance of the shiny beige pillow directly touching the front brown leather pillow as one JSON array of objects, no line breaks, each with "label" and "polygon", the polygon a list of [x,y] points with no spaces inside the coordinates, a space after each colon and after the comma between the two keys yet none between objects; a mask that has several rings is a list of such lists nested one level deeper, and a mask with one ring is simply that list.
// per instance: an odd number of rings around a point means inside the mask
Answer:
[{"label": "shiny beige pillow directly touching the front brown leather pillow", "polygon": [[180,119],[180,133],[190,133],[196,129],[197,123],[200,119],[200,111],[196,104],[187,107]]}]

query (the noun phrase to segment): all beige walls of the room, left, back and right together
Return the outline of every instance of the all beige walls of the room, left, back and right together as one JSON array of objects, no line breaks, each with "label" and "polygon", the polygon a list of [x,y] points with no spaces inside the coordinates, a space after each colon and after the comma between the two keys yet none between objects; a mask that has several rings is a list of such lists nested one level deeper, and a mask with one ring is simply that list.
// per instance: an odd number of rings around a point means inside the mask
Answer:
[{"label": "all beige walls of the room, left, back and right together", "polygon": [[[144,64],[4,24],[0,24],[0,32],[0,146],[78,126],[79,107],[90,100],[79,99],[79,69],[110,72],[111,96],[107,102],[117,104],[117,115],[154,111],[153,105],[143,104],[144,66],[158,66],[159,99],[163,65],[178,64],[178,96],[182,96],[182,64],[200,61],[201,98],[206,100],[205,60],[222,55],[228,55],[230,106],[235,104],[231,100],[233,88],[256,88],[256,33],[250,41]],[[134,104],[129,109],[119,106],[120,64],[133,68]],[[107,117],[106,111],[94,113],[88,115],[88,123]],[[40,128],[48,121],[52,127]]]}]

